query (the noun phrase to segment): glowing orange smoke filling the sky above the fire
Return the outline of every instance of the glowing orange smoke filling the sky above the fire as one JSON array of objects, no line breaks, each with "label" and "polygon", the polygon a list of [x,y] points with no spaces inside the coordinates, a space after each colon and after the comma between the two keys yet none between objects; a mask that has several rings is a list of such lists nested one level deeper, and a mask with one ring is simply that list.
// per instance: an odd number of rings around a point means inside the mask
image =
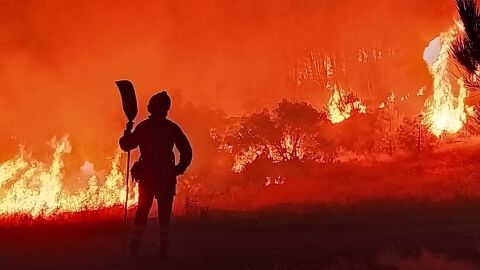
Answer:
[{"label": "glowing orange smoke filling the sky above the fire", "polygon": [[454,12],[446,0],[2,1],[0,159],[19,143],[42,153],[52,136],[69,134],[76,168],[103,162],[124,124],[120,78],[135,82],[141,118],[148,97],[168,89],[194,147],[205,130],[191,111],[210,119],[209,110],[240,114],[294,98],[289,66],[306,48],[393,49],[409,64],[379,76],[399,88],[427,85],[423,49]]}]

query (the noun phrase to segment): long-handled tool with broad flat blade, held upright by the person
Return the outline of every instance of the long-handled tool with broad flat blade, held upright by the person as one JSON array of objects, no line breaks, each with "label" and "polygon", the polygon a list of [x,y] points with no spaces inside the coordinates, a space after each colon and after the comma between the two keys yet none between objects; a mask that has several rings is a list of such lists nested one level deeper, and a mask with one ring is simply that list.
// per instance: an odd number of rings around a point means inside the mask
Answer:
[{"label": "long-handled tool with broad flat blade, held upright by the person", "polygon": [[[137,117],[138,107],[137,107],[137,97],[135,95],[135,87],[133,83],[129,80],[119,80],[115,81],[115,84],[120,91],[120,96],[122,98],[123,111],[125,116],[127,116],[128,122],[125,127],[124,135],[130,134],[133,128],[133,120]],[[123,226],[124,226],[124,238],[123,238],[123,248],[125,248],[125,241],[127,235],[127,211],[128,211],[128,184],[130,176],[130,151],[127,152],[127,169],[125,173],[125,204],[123,206]]]}]

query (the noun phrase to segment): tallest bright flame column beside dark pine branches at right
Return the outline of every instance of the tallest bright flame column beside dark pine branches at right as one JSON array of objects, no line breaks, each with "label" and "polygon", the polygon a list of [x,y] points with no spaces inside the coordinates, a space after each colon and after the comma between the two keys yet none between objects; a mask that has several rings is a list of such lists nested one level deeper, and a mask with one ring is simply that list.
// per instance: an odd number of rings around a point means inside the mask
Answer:
[{"label": "tallest bright flame column beside dark pine branches at right", "polygon": [[[457,80],[459,95],[455,97],[448,72],[449,47],[458,31],[458,26],[454,26],[449,31],[441,33],[434,40],[437,43],[440,42],[437,58],[425,59],[427,64],[431,63],[428,65],[428,69],[433,77],[433,96],[425,101],[425,117],[422,123],[437,137],[443,133],[456,133],[467,120],[464,103],[467,91],[463,85],[463,80]],[[425,49],[425,54],[427,54],[434,41]]]}]

